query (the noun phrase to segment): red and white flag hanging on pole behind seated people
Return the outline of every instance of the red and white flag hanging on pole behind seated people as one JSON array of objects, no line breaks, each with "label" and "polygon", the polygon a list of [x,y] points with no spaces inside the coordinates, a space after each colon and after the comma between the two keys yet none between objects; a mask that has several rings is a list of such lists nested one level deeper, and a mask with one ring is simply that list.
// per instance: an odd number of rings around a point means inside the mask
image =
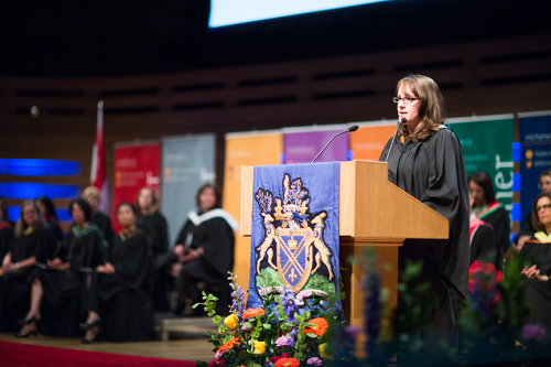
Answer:
[{"label": "red and white flag hanging on pole behind seated people", "polygon": [[109,184],[105,169],[104,149],[104,101],[98,102],[98,119],[96,126],[96,139],[91,149],[90,186],[101,193],[101,203],[98,211],[109,213]]}]

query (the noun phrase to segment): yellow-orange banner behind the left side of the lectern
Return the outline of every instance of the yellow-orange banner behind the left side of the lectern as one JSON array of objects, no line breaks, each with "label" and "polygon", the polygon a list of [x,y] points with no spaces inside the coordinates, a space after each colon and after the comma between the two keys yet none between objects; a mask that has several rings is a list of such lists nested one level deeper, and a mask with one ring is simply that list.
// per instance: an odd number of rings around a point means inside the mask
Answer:
[{"label": "yellow-orange banner behind the left side of the lectern", "polygon": [[[239,220],[241,166],[280,164],[283,137],[279,130],[226,134],[223,207]],[[236,234],[234,273],[244,290],[249,288],[250,237]]]}]

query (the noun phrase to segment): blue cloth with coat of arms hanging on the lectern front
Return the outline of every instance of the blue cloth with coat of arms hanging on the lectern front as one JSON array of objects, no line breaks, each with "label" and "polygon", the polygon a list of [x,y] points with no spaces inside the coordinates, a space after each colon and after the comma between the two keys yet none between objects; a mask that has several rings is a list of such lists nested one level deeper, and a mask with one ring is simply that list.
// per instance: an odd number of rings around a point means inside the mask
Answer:
[{"label": "blue cloth with coat of arms hanging on the lectern front", "polygon": [[338,292],[338,162],[255,168],[249,307],[285,287]]}]

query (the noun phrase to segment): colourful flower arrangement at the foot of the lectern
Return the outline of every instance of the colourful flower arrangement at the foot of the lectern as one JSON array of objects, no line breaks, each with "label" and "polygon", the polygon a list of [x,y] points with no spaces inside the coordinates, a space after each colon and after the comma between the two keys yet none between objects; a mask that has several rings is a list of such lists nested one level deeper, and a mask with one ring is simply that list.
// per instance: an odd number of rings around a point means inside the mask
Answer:
[{"label": "colourful flower arrangement at the foot of the lectern", "polygon": [[205,303],[201,304],[218,324],[218,333],[207,333],[215,358],[197,361],[197,366],[322,366],[329,357],[327,330],[338,323],[332,312],[335,300],[323,300],[309,291],[295,295],[291,288],[281,288],[279,293],[264,295],[262,306],[245,310],[246,292],[236,278],[233,273],[228,278],[233,304],[224,321],[214,311],[217,299],[203,293]]}]

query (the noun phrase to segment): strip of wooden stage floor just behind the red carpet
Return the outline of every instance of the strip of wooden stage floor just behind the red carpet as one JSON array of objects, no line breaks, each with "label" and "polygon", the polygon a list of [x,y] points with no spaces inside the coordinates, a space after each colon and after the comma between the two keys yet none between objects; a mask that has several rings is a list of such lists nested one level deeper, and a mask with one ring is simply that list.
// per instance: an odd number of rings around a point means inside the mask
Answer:
[{"label": "strip of wooden stage floor just behind the red carpet", "polygon": [[17,338],[13,334],[0,333],[0,342],[42,345],[67,349],[116,353],[123,355],[170,358],[181,360],[206,360],[214,358],[213,345],[201,334],[171,333],[169,342],[151,341],[142,343],[98,342],[82,344],[79,338],[61,338],[52,336]]}]

